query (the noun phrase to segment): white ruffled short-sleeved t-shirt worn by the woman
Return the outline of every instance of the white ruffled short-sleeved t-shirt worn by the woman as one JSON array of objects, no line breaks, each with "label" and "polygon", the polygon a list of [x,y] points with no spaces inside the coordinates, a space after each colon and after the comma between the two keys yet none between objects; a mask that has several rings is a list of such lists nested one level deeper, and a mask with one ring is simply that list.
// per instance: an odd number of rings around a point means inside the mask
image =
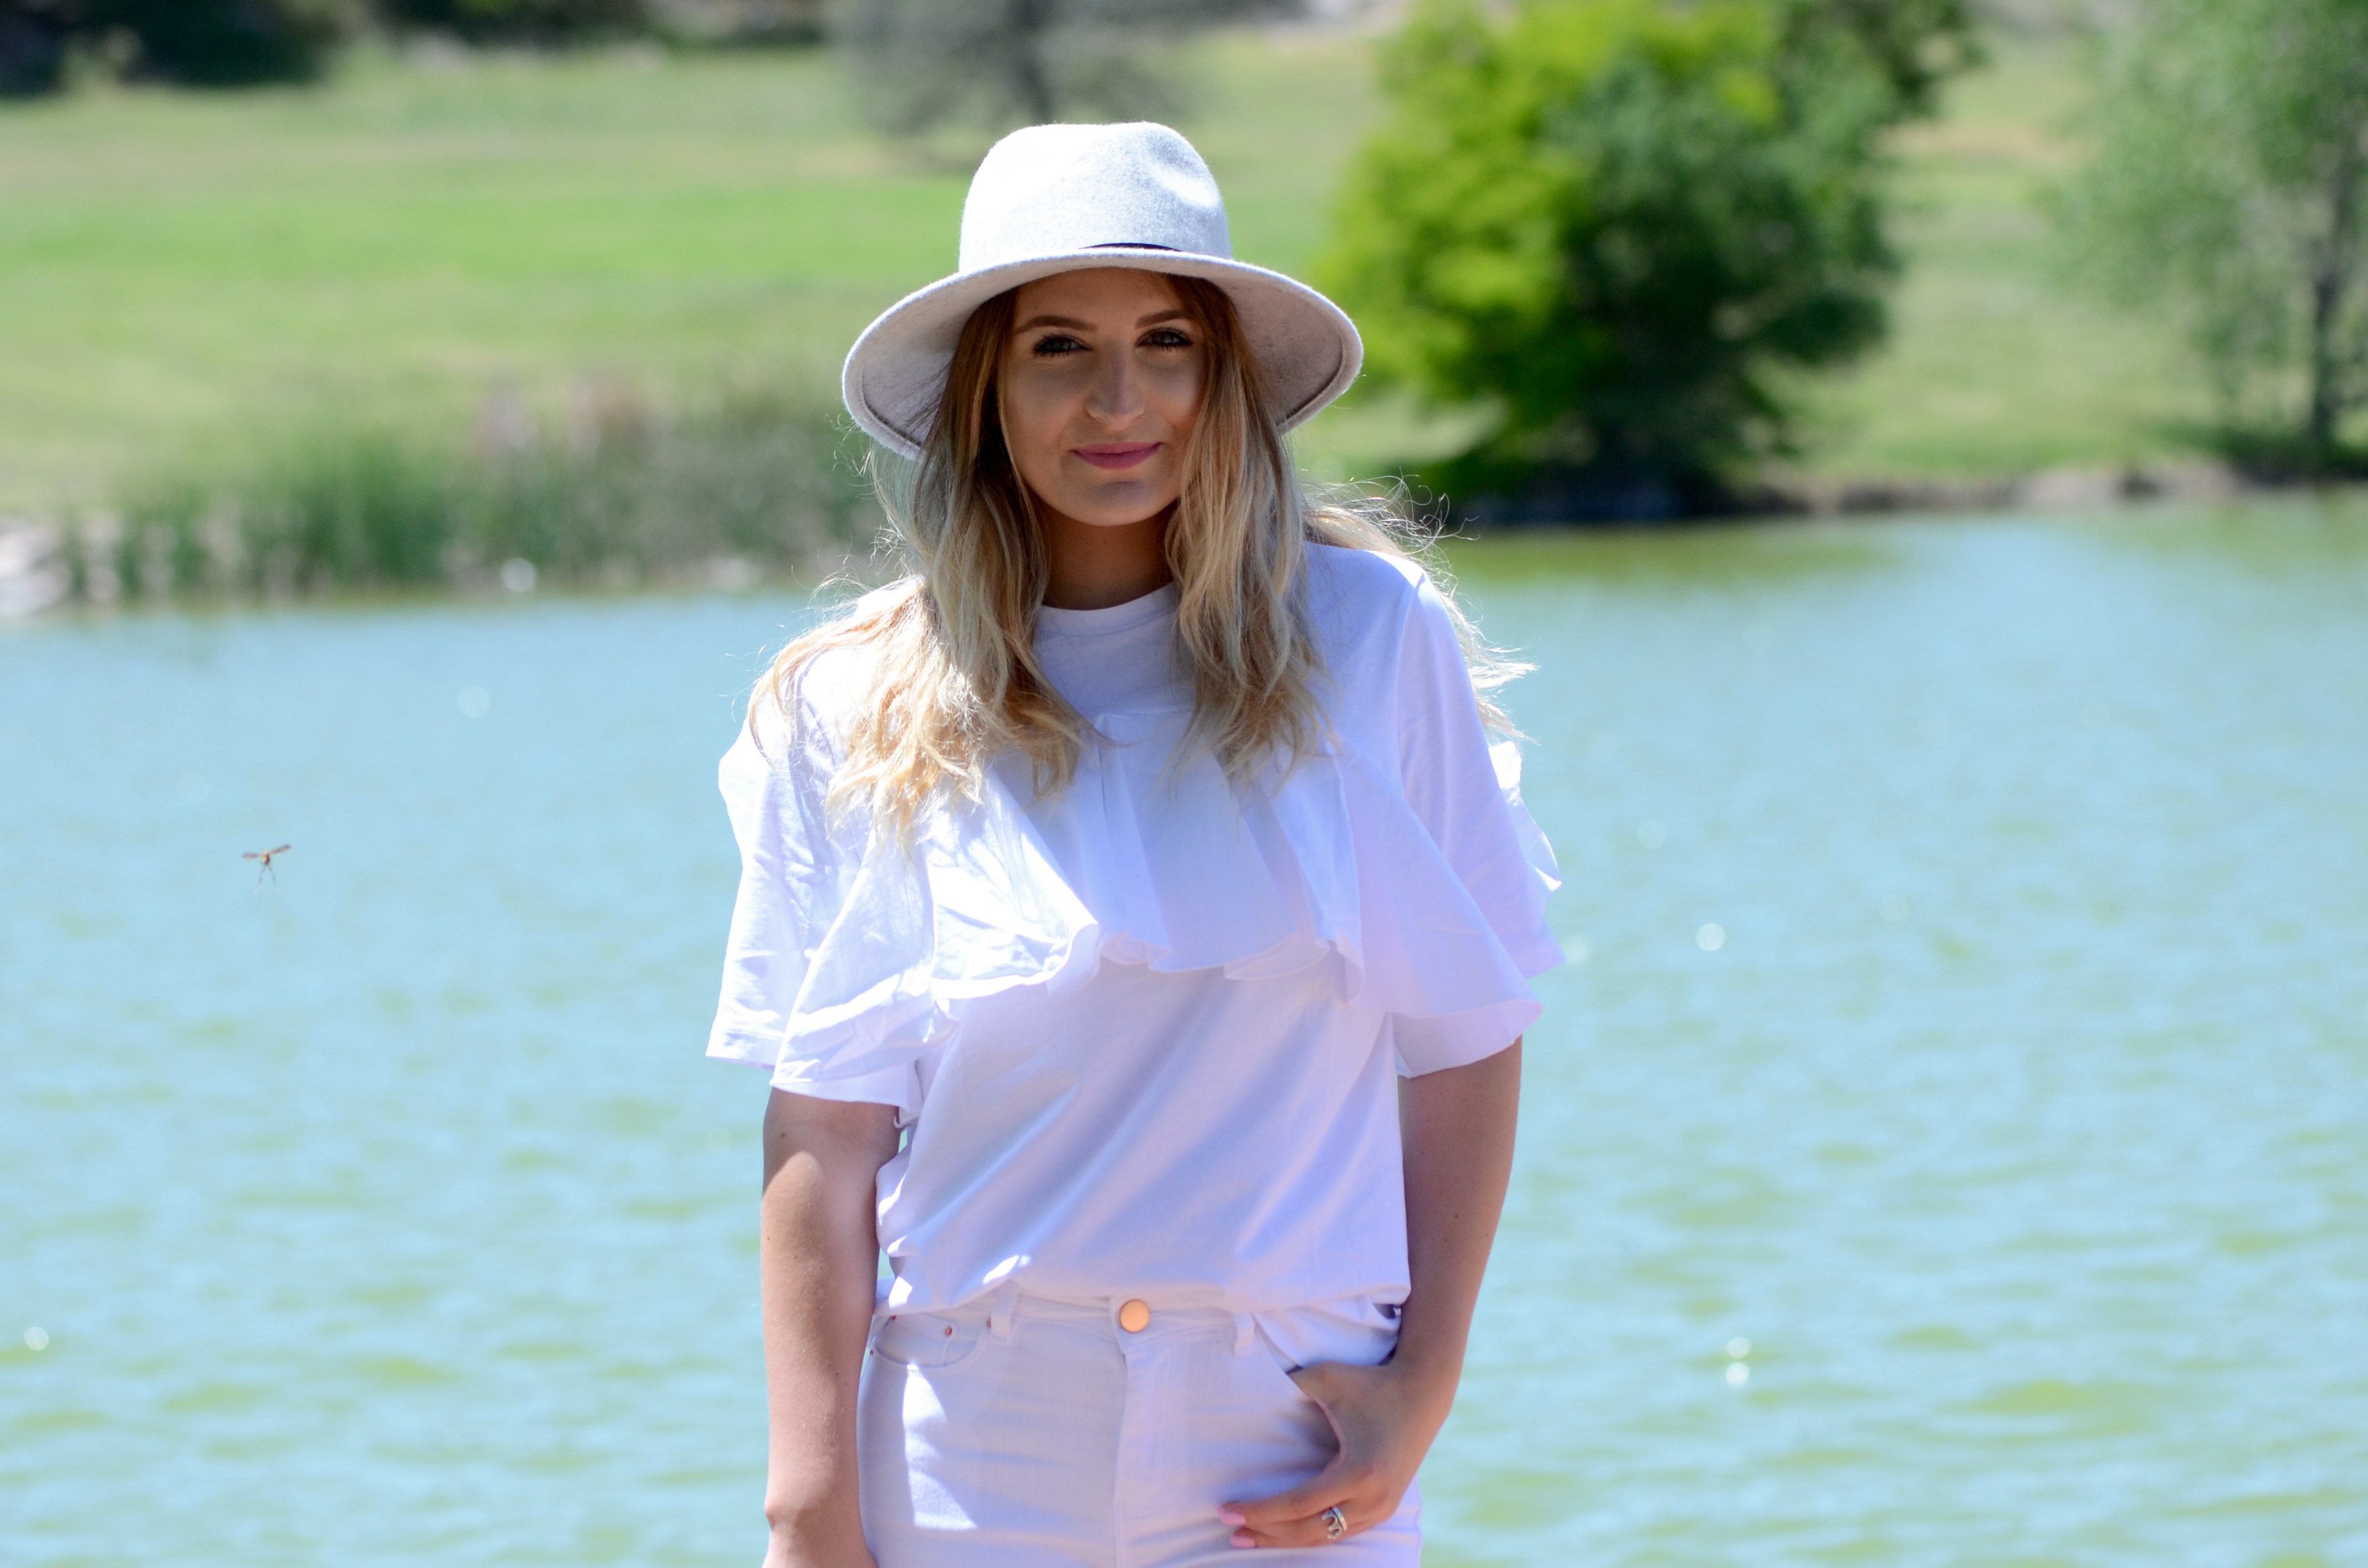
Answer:
[{"label": "white ruffled short-sleeved t-shirt worn by the woman", "polygon": [[1553,857],[1421,568],[1310,557],[1331,746],[1248,786],[1172,767],[1172,587],[1040,611],[1037,658],[1096,732],[1058,796],[1014,758],[909,848],[834,817],[857,649],[807,668],[796,727],[725,756],[744,872],[708,1054],[897,1108],[890,1307],[1006,1281],[1246,1315],[1404,1300],[1397,1078],[1537,1016]]}]

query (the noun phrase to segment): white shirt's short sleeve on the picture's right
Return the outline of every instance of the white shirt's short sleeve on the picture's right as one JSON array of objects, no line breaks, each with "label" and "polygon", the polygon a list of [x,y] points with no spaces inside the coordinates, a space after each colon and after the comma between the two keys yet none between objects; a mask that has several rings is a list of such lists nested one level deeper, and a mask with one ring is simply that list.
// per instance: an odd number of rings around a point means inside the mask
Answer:
[{"label": "white shirt's short sleeve on the picture's right", "polygon": [[[1454,613],[1416,583],[1397,658],[1397,763],[1407,805],[1487,919],[1513,969],[1537,978],[1563,962],[1546,926],[1561,886],[1553,850],[1520,798],[1520,751],[1489,744]],[[1468,1014],[1392,1014],[1399,1071],[1466,1066],[1508,1047],[1539,1014],[1523,992]]]}]

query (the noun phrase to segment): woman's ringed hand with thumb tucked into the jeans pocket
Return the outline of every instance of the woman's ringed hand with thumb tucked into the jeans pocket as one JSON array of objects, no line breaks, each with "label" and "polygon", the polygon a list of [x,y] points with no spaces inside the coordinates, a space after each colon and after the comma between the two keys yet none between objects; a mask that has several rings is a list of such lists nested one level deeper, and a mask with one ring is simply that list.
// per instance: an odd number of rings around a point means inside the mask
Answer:
[{"label": "woman's ringed hand with thumb tucked into the jeans pocket", "polygon": [[1319,1362],[1291,1374],[1333,1426],[1340,1452],[1324,1473],[1265,1502],[1229,1502],[1217,1518],[1234,1530],[1236,1547],[1321,1547],[1324,1509],[1338,1506],[1347,1532],[1357,1535],[1397,1514],[1414,1485],[1430,1440],[1447,1424],[1454,1381],[1388,1362],[1347,1367]]}]

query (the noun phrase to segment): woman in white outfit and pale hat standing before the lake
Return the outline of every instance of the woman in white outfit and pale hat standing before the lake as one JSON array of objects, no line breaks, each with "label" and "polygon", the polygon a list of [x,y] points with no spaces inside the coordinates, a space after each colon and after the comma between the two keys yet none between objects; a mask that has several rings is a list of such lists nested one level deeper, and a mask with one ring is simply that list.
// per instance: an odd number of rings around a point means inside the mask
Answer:
[{"label": "woman in white outfit and pale hat standing before the lake", "polygon": [[914,576],[722,765],[774,1568],[1418,1556],[1561,955],[1504,666],[1293,476],[1357,362],[1163,126],[1006,137],[848,358]]}]

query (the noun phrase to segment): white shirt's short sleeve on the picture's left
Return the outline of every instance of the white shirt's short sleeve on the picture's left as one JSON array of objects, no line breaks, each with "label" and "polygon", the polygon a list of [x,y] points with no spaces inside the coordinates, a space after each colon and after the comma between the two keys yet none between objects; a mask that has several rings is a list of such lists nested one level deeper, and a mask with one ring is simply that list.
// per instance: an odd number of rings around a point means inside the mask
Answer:
[{"label": "white shirt's short sleeve on the picture's left", "polygon": [[[739,843],[741,876],[725,938],[722,997],[708,1033],[708,1056],[772,1073],[774,1087],[817,1099],[895,1106],[912,1120],[921,1106],[919,1052],[928,1037],[926,1016],[909,1004],[874,1009],[869,1045],[909,1033],[914,1049],[855,1054],[826,1042],[800,1040],[800,1004],[810,1002],[807,978],[817,950],[845,914],[860,881],[864,838],[860,822],[834,829],[829,786],[838,758],[829,727],[800,699],[798,722],[758,706],[718,767],[725,812]],[[838,1009],[843,1011],[843,1009]]]}]

